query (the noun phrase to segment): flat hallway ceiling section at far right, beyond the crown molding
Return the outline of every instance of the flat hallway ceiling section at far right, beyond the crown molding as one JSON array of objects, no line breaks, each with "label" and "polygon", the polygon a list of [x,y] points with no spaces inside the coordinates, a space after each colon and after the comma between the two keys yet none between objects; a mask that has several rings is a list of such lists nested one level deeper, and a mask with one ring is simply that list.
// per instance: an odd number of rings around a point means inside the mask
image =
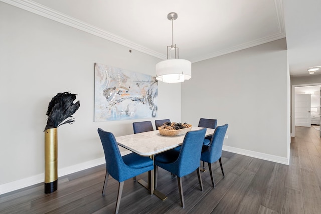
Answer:
[{"label": "flat hallway ceiling section at far right, beyond the crown molding", "polygon": [[[307,76],[308,67],[321,66],[320,9],[319,0],[283,0],[291,75]],[[321,71],[311,75],[317,74],[321,74]]]}]

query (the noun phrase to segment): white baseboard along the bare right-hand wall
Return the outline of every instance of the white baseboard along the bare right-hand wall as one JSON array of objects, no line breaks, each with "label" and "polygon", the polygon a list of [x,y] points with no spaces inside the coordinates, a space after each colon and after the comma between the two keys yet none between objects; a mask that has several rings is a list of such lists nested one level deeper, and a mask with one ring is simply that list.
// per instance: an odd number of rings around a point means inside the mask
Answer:
[{"label": "white baseboard along the bare right-hand wall", "polygon": [[224,151],[233,152],[233,153],[236,153],[236,154],[246,155],[246,156],[249,156],[249,157],[259,158],[259,159],[262,159],[262,160],[268,160],[268,161],[272,161],[272,162],[276,162],[276,163],[282,163],[282,164],[285,164],[285,165],[289,165],[289,163],[290,163],[290,159],[286,158],[286,157],[280,157],[280,156],[275,156],[275,155],[272,155],[272,154],[265,154],[265,153],[261,153],[261,152],[235,148],[235,147],[231,147],[231,146],[223,145],[223,150]]}]

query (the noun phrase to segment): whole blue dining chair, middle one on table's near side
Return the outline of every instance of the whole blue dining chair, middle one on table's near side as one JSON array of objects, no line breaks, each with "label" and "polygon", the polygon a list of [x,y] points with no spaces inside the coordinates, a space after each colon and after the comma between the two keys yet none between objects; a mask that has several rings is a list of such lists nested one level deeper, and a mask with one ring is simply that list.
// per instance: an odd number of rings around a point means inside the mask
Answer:
[{"label": "whole blue dining chair, middle one on table's near side", "polygon": [[[172,149],[154,156],[155,168],[159,166],[177,176],[181,205],[183,207],[185,207],[182,185],[183,176],[196,171],[199,178],[200,188],[203,191],[203,183],[199,166],[205,133],[206,128],[189,131],[184,137],[180,151]],[[155,183],[156,182],[157,181],[155,180]]]}]

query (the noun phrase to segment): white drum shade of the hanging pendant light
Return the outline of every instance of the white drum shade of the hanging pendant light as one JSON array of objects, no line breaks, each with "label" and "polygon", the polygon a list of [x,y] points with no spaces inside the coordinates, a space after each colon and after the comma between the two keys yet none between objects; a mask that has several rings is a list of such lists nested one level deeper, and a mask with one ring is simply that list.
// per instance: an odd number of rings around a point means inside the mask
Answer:
[{"label": "white drum shade of the hanging pendant light", "polygon": [[181,83],[192,77],[192,63],[184,59],[169,59],[156,64],[156,79],[165,83]]}]

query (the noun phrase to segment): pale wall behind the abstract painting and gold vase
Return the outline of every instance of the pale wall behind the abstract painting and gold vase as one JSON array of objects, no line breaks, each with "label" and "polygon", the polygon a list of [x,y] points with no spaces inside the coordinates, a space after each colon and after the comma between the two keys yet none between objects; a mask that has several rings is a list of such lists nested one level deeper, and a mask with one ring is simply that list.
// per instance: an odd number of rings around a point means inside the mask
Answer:
[{"label": "pale wall behind the abstract painting and gold vase", "polygon": [[[0,31],[0,194],[43,182],[45,114],[58,92],[80,100],[74,124],[58,128],[59,171],[104,162],[97,128],[133,133],[132,120],[93,122],[94,63],[154,75],[159,59],[2,2]],[[181,84],[158,83],[157,118],[181,121]]]}]

